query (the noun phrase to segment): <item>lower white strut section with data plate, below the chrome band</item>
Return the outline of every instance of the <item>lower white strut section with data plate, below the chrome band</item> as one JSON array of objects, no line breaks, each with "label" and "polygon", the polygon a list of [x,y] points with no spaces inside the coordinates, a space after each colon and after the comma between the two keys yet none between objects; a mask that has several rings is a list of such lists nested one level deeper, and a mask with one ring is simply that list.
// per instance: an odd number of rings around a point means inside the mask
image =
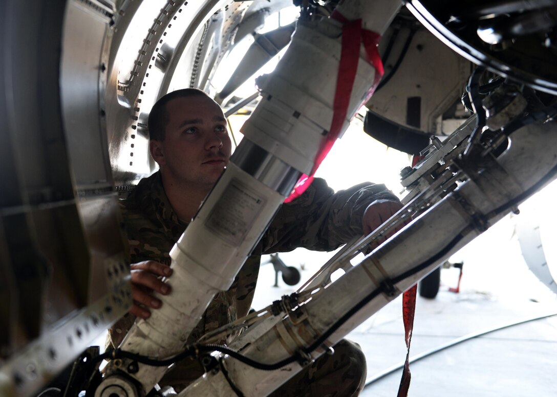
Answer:
[{"label": "lower white strut section with data plate, below the chrome band", "polygon": [[[165,282],[172,294],[157,294],[163,302],[160,309],[153,310],[149,319],[138,320],[120,349],[157,358],[182,351],[213,296],[232,285],[282,201],[283,195],[230,163],[170,251],[173,275]],[[165,367],[139,364],[139,371],[130,374],[143,387],[139,395],[152,389],[165,371]],[[96,396],[105,397],[109,384],[110,376]]]}]

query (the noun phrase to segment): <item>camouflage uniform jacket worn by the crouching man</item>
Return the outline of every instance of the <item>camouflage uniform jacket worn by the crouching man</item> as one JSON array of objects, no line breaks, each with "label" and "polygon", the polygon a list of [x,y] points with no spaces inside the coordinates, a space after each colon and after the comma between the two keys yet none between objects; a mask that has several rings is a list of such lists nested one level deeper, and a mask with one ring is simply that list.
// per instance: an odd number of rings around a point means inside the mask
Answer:
[{"label": "camouflage uniform jacket worn by the crouching man", "polygon": [[[378,199],[398,201],[384,185],[363,183],[334,193],[323,179],[315,178],[302,196],[280,207],[231,288],[213,299],[187,343],[247,315],[261,255],[297,247],[334,250],[362,234],[364,211]],[[130,263],[155,260],[170,265],[169,252],[183,234],[187,222],[178,220],[170,206],[160,173],[143,178],[128,198],[120,200],[120,207],[128,234]],[[115,346],[120,344],[134,320],[127,314],[111,327],[110,339]]]}]

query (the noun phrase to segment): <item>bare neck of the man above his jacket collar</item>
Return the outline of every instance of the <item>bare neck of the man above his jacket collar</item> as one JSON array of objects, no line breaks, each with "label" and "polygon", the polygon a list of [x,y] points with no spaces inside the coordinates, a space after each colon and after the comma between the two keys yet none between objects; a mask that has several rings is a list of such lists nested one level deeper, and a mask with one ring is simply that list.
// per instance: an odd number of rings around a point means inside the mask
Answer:
[{"label": "bare neck of the man above his jacket collar", "polygon": [[172,177],[164,175],[164,173],[161,176],[164,192],[176,216],[181,221],[191,221],[202,201],[211,190],[211,186],[178,182]]}]

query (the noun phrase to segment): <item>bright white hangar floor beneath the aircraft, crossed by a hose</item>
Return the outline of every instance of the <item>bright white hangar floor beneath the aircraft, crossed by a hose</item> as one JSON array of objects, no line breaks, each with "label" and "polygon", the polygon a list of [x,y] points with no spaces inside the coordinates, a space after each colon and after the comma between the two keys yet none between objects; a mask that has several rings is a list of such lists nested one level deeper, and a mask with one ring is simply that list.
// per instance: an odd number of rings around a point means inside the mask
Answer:
[{"label": "bright white hangar floor beneath the aircraft, crossed by a hose", "polygon": [[[319,256],[323,264],[328,255]],[[305,262],[302,280],[319,268],[311,264],[314,259],[307,251],[281,254],[281,258],[296,267]],[[464,262],[460,293],[448,291],[458,279],[458,270],[452,268],[442,270],[436,299],[418,297],[411,357],[465,335],[550,316],[463,341],[416,361],[411,364],[409,396],[557,396],[557,296],[527,269],[512,220],[505,218],[451,260]],[[256,309],[295,290],[280,277],[279,286],[272,287],[274,277],[272,266],[262,266]],[[406,354],[403,335],[399,297],[348,336],[363,348],[368,381],[402,364]],[[398,369],[373,381],[361,396],[396,396],[401,374]]]}]

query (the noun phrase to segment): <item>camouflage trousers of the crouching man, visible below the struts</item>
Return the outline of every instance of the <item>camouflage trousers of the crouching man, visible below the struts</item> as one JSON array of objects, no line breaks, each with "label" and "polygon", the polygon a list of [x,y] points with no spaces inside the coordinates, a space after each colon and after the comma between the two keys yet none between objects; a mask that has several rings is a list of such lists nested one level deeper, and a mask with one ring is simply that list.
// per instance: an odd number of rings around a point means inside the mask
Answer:
[{"label": "camouflage trousers of the crouching man, visible below the struts", "polygon": [[[367,366],[358,344],[343,339],[334,346],[333,355],[324,354],[304,368],[277,390],[271,397],[351,397],[360,394],[365,385]],[[176,391],[203,375],[197,361],[186,359],[178,363],[159,382]]]}]

